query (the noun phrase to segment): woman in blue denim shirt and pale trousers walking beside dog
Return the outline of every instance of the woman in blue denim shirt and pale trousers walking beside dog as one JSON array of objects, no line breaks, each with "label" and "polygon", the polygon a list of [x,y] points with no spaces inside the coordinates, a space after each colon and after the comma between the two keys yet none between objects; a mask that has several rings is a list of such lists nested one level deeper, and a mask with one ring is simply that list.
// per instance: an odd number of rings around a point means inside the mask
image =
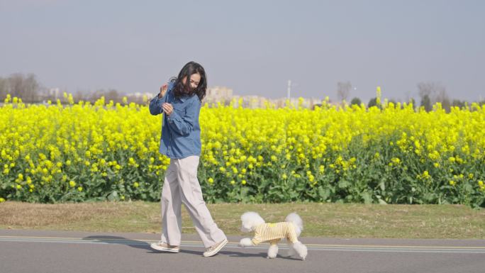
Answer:
[{"label": "woman in blue denim shirt and pale trousers walking beside dog", "polygon": [[216,255],[228,243],[208,211],[197,179],[201,154],[199,113],[206,88],[204,67],[189,62],[179,76],[160,87],[160,94],[150,101],[152,115],[165,113],[160,152],[170,158],[162,188],[162,238],[152,243],[155,250],[179,252],[182,203],[206,247],[204,257]]}]

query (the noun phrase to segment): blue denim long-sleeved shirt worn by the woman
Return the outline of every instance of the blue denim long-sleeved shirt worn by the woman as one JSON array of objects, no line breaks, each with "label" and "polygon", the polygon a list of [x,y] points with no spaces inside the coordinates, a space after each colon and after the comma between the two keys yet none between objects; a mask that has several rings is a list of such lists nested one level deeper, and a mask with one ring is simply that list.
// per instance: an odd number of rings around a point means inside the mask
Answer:
[{"label": "blue denim long-sleeved shirt worn by the woman", "polygon": [[160,153],[169,158],[181,159],[190,155],[201,155],[201,126],[199,113],[201,101],[197,95],[175,98],[174,83],[169,82],[167,92],[162,98],[155,96],[150,101],[150,113],[154,116],[163,113],[162,104],[172,104],[174,111],[162,118],[162,138]]}]

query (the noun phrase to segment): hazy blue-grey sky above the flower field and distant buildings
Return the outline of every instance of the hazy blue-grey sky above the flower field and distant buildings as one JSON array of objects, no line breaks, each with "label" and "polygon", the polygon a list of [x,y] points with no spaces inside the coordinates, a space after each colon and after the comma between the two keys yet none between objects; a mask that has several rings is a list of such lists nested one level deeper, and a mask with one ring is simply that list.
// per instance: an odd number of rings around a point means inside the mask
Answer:
[{"label": "hazy blue-grey sky above the flower field and distant buildings", "polygon": [[0,0],[0,77],[157,93],[189,61],[238,95],[485,99],[485,1]]}]

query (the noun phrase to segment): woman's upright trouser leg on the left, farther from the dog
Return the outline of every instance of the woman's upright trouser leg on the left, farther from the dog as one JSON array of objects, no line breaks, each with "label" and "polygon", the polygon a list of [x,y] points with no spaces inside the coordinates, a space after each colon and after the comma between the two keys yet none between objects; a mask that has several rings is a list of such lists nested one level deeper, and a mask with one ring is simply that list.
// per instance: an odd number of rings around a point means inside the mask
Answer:
[{"label": "woman's upright trouser leg on the left, farther from the dog", "polygon": [[182,235],[182,214],[177,165],[170,160],[162,188],[162,242],[169,245],[180,245]]}]

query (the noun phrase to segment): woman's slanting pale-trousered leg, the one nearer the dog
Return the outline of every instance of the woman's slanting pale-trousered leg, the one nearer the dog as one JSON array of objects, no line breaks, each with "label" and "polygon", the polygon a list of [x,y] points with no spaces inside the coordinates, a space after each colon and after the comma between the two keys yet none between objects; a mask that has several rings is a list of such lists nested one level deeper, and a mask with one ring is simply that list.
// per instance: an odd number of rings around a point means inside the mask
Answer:
[{"label": "woman's slanting pale-trousered leg, the one nearer the dog", "polygon": [[186,206],[187,211],[189,211],[204,246],[211,247],[226,240],[227,238],[223,231],[214,223],[202,197],[201,185],[199,184],[199,179],[197,179],[199,157],[185,157],[175,162],[182,202]]}]

